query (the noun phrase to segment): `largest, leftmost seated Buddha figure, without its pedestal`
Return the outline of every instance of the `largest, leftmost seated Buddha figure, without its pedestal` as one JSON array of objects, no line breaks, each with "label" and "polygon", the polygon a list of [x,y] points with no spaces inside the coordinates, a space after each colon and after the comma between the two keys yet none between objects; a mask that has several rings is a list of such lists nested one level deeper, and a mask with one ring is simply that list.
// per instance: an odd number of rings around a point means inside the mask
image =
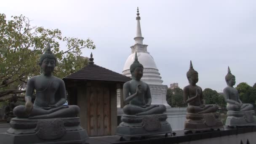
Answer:
[{"label": "largest, leftmost seated Buddha figure, without its pedestal", "polygon": [[[66,89],[64,81],[53,76],[56,57],[51,52],[50,44],[41,56],[39,65],[41,75],[29,78],[25,95],[25,105],[13,109],[18,118],[47,119],[57,117],[75,117],[80,108],[76,105],[64,106]],[[32,94],[36,91],[36,98],[32,104]]]}]

